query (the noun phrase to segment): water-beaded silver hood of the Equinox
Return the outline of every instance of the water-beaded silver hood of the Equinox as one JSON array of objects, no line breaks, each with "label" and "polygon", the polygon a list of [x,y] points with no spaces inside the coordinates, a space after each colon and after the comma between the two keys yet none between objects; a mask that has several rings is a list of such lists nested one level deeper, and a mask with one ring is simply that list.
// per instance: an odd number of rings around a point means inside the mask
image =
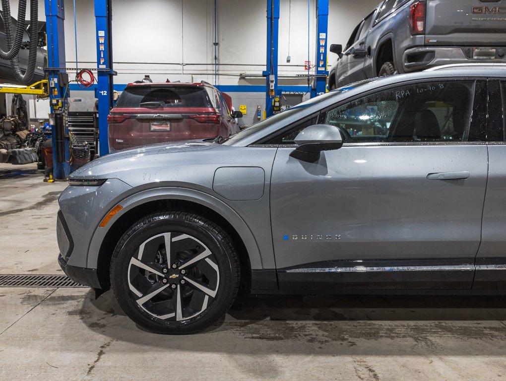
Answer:
[{"label": "water-beaded silver hood of the Equinox", "polygon": [[[172,156],[173,154],[190,152],[194,154],[195,151],[209,150],[219,146],[219,144],[202,140],[188,140],[124,150],[102,156],[83,165],[74,171],[69,179],[121,178],[123,172],[150,168],[156,164],[162,165],[164,162],[169,164],[179,161],[180,159],[176,159],[176,156]],[[184,157],[188,159],[189,155],[184,155]],[[157,161],[158,163],[156,163]]]}]

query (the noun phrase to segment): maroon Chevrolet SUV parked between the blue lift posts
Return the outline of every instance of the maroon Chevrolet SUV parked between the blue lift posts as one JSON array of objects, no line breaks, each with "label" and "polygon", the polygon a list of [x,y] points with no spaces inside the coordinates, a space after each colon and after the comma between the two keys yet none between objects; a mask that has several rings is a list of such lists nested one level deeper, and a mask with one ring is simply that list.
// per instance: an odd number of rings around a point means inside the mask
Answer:
[{"label": "maroon Chevrolet SUV parked between the blue lift posts", "polygon": [[239,132],[232,99],[207,82],[130,83],[107,117],[111,152]]}]

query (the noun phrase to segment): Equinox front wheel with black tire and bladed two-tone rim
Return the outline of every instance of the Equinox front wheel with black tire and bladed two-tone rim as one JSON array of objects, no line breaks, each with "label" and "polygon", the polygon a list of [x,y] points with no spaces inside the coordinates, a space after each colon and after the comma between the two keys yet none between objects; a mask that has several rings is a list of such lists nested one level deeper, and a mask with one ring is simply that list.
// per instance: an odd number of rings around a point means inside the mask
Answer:
[{"label": "Equinox front wheel with black tire and bladed two-tone rim", "polygon": [[117,243],[110,267],[125,314],[150,331],[170,334],[195,333],[217,322],[234,301],[239,276],[230,236],[186,211],[138,221]]}]

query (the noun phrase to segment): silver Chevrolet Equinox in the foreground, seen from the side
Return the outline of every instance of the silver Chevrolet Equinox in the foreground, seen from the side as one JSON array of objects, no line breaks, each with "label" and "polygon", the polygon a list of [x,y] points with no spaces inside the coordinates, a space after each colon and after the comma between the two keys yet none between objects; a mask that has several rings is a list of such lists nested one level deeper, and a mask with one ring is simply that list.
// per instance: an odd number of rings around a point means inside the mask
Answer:
[{"label": "silver Chevrolet Equinox in the foreground, seen from the side", "polygon": [[440,67],[104,156],[60,196],[60,265],[164,333],[212,325],[239,289],[501,292],[504,104],[504,66]]}]

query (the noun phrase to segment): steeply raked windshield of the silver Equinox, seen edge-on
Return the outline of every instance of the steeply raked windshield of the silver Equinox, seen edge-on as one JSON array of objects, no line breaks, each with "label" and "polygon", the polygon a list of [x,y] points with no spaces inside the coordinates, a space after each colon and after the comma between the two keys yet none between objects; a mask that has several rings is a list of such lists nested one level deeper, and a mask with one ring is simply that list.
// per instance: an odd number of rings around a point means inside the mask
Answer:
[{"label": "steeply raked windshield of the silver Equinox, seen edge-on", "polygon": [[371,80],[368,79],[368,80],[364,80],[361,82],[352,83],[346,87],[342,87],[337,90],[332,90],[332,91],[329,91],[328,93],[319,95],[318,97],[308,99],[307,101],[299,103],[296,106],[290,107],[290,108],[280,112],[279,114],[272,115],[272,116],[268,117],[267,119],[261,120],[255,124],[251,124],[248,128],[235,134],[230,139],[227,139],[223,144],[232,145],[234,143],[240,142],[241,140],[247,138],[248,136],[255,134],[259,131],[262,131],[263,129],[271,126],[272,124],[274,124],[278,121],[281,121],[283,119],[288,118],[289,116],[292,116],[294,114],[297,114],[297,113],[303,111],[308,106],[312,106],[315,103],[318,103],[318,102],[321,102],[327,98],[333,97],[338,93],[344,93],[349,90],[355,89],[357,86],[361,86],[362,84],[368,83],[370,81]]}]

